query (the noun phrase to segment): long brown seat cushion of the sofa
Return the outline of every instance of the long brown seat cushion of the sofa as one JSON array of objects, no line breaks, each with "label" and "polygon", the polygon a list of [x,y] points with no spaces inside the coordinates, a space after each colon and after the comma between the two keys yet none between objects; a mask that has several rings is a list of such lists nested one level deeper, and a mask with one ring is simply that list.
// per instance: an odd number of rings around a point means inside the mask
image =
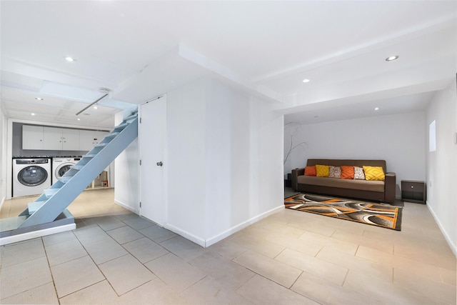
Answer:
[{"label": "long brown seat cushion of the sofa", "polygon": [[298,176],[298,184],[338,187],[341,189],[359,189],[363,191],[384,191],[384,181],[366,181],[333,179],[328,177]]}]

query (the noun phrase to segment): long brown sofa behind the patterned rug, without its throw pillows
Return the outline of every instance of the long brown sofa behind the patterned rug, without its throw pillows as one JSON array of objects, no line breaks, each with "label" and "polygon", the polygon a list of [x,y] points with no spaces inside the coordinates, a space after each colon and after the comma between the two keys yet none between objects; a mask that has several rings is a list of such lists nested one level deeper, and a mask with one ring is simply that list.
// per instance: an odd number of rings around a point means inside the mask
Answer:
[{"label": "long brown sofa behind the patterned rug, without its throw pillows", "polygon": [[293,169],[292,189],[294,191],[388,203],[395,201],[396,174],[386,171],[385,160],[308,159],[306,166],[315,166],[316,164],[331,166],[381,166],[385,174],[385,181],[305,176],[304,168]]}]

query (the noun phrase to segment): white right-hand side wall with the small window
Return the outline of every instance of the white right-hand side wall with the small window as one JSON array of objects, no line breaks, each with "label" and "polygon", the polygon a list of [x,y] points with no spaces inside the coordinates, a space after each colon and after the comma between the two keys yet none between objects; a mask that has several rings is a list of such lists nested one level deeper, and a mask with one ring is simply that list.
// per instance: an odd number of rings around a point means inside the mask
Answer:
[{"label": "white right-hand side wall with the small window", "polygon": [[453,83],[428,106],[426,124],[436,121],[436,151],[427,152],[427,205],[457,255],[457,92]]}]

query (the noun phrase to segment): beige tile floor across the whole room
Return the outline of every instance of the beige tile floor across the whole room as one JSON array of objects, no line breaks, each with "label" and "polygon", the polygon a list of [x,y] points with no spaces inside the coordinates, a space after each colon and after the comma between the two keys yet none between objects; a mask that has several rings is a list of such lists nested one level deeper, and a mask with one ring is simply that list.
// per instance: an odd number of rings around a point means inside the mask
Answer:
[{"label": "beige tile floor across the whole room", "polygon": [[421,204],[402,231],[284,209],[204,249],[113,202],[84,191],[76,230],[1,246],[1,304],[456,304],[456,256]]}]

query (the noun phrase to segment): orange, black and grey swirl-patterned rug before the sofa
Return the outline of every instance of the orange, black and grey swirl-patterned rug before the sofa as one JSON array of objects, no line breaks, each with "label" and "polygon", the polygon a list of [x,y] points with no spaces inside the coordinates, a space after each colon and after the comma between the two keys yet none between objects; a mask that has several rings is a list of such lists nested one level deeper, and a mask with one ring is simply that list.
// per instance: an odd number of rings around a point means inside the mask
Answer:
[{"label": "orange, black and grey swirl-patterned rug before the sofa", "polygon": [[348,221],[381,226],[401,231],[400,206],[373,204],[372,202],[338,199],[313,194],[297,194],[284,199],[286,209],[330,216]]}]

